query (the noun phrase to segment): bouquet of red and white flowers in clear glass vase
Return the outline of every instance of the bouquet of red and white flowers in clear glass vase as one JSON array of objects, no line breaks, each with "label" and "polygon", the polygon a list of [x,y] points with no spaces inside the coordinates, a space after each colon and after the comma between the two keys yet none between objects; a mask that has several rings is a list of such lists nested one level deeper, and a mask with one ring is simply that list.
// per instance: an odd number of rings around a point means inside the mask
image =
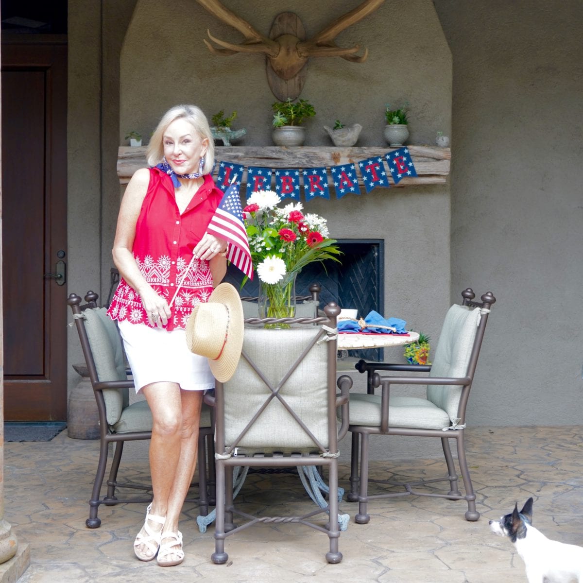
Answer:
[{"label": "bouquet of red and white flowers in clear glass vase", "polygon": [[[253,192],[243,209],[251,258],[259,277],[259,315],[293,318],[296,311],[296,276],[313,261],[340,262],[335,239],[328,238],[326,220],[308,213],[301,202],[278,205],[273,191]],[[289,325],[268,325],[289,328]]]}]

